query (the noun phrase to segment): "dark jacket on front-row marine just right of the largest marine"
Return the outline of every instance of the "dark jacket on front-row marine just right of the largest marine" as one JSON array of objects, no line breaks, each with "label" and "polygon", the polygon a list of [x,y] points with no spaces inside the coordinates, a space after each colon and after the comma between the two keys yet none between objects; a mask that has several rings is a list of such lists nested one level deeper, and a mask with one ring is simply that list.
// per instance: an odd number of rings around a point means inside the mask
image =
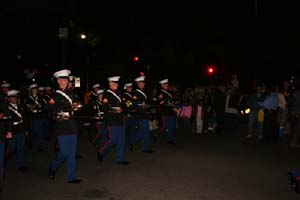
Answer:
[{"label": "dark jacket on front-row marine just right of the largest marine", "polygon": [[108,126],[122,126],[124,125],[124,114],[114,112],[115,109],[122,107],[122,99],[108,89],[103,94],[103,112],[104,112],[104,121]]}]

